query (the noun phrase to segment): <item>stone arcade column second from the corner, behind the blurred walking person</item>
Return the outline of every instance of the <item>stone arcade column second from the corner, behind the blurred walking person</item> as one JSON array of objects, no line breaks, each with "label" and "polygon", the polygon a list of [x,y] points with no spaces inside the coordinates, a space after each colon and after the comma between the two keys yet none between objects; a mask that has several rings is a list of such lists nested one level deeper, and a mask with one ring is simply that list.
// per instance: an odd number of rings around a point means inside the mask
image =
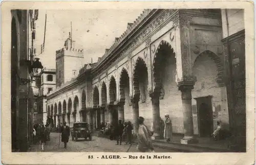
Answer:
[{"label": "stone arcade column second from the corner, behind the blurred walking person", "polygon": [[152,139],[160,139],[161,133],[160,133],[160,110],[159,110],[159,96],[160,93],[152,92],[150,93],[150,97],[152,100],[152,111],[153,111],[153,129],[154,134],[152,136]]}]

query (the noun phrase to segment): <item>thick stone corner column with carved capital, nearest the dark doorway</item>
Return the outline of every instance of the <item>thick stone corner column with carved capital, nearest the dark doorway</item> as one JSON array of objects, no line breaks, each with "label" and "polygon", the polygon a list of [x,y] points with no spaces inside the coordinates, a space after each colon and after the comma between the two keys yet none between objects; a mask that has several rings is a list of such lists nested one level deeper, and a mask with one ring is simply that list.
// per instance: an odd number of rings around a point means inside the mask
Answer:
[{"label": "thick stone corner column with carved capital, nearest the dark doorway", "polygon": [[184,137],[180,140],[181,144],[193,144],[198,143],[198,139],[194,137],[192,105],[191,105],[191,90],[193,85],[179,85],[182,99],[182,111],[183,111],[183,125],[184,125]]}]

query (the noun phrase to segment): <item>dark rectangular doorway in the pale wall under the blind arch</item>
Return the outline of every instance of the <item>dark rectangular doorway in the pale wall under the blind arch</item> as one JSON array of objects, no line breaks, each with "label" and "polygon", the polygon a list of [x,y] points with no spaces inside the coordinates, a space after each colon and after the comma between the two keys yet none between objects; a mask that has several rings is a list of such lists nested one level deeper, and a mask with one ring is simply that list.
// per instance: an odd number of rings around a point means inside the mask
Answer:
[{"label": "dark rectangular doorway in the pale wall under the blind arch", "polygon": [[211,97],[197,98],[198,107],[198,130],[200,137],[210,137],[214,130],[212,119]]}]

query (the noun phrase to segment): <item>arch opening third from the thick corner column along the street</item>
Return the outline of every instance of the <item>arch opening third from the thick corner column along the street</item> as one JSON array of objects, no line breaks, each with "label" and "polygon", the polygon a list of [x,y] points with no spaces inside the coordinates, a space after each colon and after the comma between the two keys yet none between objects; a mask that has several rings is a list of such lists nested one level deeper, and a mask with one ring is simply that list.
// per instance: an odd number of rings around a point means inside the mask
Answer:
[{"label": "arch opening third from the thick corner column along the street", "polygon": [[[129,100],[130,100],[130,82],[129,74],[125,68],[122,69],[119,81],[119,90],[120,90],[120,105],[118,110],[118,119],[124,122],[124,116],[127,119],[132,119],[132,113],[129,111]],[[124,111],[125,110],[125,111]],[[125,115],[124,115],[125,113]]]}]

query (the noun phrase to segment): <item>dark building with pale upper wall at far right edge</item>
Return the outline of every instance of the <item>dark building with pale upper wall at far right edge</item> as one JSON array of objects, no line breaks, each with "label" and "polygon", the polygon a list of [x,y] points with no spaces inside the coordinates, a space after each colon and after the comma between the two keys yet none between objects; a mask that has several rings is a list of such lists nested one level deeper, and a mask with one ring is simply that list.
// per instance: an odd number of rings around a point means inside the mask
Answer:
[{"label": "dark building with pale upper wall at far right edge", "polygon": [[232,148],[246,151],[245,25],[243,9],[222,9],[223,58]]}]

